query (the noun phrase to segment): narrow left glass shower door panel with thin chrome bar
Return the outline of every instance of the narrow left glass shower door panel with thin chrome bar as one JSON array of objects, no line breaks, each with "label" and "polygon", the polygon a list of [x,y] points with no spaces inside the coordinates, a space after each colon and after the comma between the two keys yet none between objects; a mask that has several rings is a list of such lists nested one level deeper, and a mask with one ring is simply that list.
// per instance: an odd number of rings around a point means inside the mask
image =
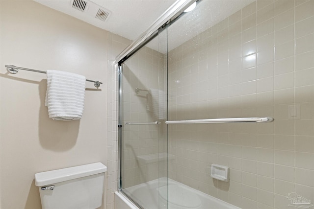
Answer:
[{"label": "narrow left glass shower door panel with thin chrome bar", "polygon": [[120,188],[139,207],[167,208],[166,33],[119,66]]}]

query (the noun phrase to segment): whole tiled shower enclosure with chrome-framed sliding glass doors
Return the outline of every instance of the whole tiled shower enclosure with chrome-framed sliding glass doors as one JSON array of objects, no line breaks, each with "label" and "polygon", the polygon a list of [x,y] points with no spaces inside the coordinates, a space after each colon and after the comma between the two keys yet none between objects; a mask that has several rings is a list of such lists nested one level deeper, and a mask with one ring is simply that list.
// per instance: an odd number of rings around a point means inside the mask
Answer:
[{"label": "whole tiled shower enclosure with chrome-framed sliding glass doors", "polygon": [[118,189],[146,209],[311,208],[314,0],[179,0],[118,57]]}]

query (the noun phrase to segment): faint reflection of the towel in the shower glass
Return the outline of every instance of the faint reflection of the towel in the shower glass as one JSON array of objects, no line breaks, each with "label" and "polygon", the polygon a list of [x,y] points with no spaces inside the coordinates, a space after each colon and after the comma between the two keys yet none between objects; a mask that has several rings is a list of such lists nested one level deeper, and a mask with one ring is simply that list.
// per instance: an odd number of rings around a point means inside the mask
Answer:
[{"label": "faint reflection of the towel in the shower glass", "polygon": [[152,109],[155,119],[166,119],[166,100],[165,93],[158,89],[150,89],[152,96]]}]

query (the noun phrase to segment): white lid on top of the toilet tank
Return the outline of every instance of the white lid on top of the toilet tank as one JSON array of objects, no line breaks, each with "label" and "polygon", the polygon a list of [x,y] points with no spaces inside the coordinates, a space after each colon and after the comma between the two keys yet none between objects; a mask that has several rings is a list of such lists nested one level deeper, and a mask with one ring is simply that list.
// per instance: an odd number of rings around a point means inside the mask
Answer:
[{"label": "white lid on top of the toilet tank", "polygon": [[62,168],[35,174],[36,186],[47,186],[85,176],[91,176],[107,171],[103,163],[91,163],[75,167]]}]

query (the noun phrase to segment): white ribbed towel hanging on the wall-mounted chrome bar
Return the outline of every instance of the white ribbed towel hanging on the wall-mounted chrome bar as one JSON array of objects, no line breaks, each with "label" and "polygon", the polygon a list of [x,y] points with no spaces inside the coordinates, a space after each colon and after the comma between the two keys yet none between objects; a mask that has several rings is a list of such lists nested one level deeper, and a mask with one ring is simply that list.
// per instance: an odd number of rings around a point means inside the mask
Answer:
[{"label": "white ribbed towel hanging on the wall-mounted chrome bar", "polygon": [[77,120],[82,117],[85,76],[71,72],[47,70],[45,105],[53,120]]}]

